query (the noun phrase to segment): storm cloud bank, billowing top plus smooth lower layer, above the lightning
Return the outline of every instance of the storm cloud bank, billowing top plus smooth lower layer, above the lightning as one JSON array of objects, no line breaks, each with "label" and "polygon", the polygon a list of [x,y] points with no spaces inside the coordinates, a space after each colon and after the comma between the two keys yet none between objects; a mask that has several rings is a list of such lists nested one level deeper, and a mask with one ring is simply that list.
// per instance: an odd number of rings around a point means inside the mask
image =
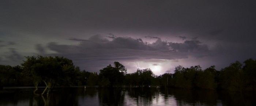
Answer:
[{"label": "storm cloud bank, billowing top plus smooth lower layer, above the lightning", "polygon": [[[131,37],[116,37],[110,41],[101,35],[94,35],[86,41],[80,41],[80,45],[59,45],[56,42],[50,42],[48,48],[57,52],[54,55],[69,57],[75,63],[81,64],[78,62],[80,61],[87,66],[95,67],[105,67],[106,63],[113,61],[138,61],[150,58],[177,60],[188,58],[188,56],[209,56],[207,45],[200,41],[172,43],[158,38],[153,43],[145,43],[142,39]],[[199,52],[207,53],[199,55]],[[95,64],[93,61],[105,64]]]}]

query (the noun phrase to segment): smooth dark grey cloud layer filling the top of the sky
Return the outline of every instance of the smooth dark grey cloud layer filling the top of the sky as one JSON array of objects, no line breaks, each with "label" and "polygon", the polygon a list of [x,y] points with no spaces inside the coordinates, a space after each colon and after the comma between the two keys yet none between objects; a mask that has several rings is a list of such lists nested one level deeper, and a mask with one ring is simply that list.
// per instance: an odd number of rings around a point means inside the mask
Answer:
[{"label": "smooth dark grey cloud layer filling the top of the sky", "polygon": [[[189,33],[186,35],[188,38],[216,35],[225,29],[227,38],[236,36],[234,39],[238,40],[244,33],[250,38],[255,33],[253,4],[253,0],[4,0],[0,4],[0,28],[7,33],[12,31],[44,36],[79,35],[84,32],[95,34],[97,31],[110,33],[114,30],[149,36],[166,35],[166,32]],[[208,32],[209,29],[212,31]],[[239,33],[239,29],[244,33]]]}]

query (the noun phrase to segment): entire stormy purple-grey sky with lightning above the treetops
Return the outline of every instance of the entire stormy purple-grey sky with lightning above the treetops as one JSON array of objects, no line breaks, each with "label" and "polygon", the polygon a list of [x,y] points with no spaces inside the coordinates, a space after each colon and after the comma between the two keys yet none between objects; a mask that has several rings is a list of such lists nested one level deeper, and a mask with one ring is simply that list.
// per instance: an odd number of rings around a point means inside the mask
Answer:
[{"label": "entire stormy purple-grey sky with lightning above the treetops", "polygon": [[1,0],[0,64],[64,56],[81,70],[118,61],[156,75],[256,59],[255,0]]}]

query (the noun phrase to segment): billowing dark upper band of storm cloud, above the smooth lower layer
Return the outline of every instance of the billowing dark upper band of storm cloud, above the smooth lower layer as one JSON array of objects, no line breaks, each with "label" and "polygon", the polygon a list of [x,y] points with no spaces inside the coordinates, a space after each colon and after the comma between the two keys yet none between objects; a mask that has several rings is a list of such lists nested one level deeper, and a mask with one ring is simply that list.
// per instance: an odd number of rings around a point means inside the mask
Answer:
[{"label": "billowing dark upper band of storm cloud, above the smooth lower layer", "polygon": [[[81,41],[80,45],[78,46],[77,45],[58,45],[56,42],[50,42],[48,44],[48,48],[58,53],[92,52],[95,49],[101,49],[101,51],[104,51],[104,52],[99,52],[99,53],[102,53],[102,54],[108,54],[111,51],[114,51],[113,53],[116,53],[117,51],[120,51],[120,50],[125,50],[126,52],[127,50],[131,50],[131,51],[138,50],[140,51],[136,53],[138,55],[140,55],[140,53],[143,53],[142,51],[148,52],[149,54],[153,52],[167,53],[167,54],[168,53],[175,54],[176,52],[179,52],[179,53],[209,52],[208,46],[206,44],[202,44],[202,42],[198,40],[184,41],[183,43],[173,43],[173,42],[162,41],[161,38],[158,38],[157,41],[153,43],[145,43],[142,41],[142,39],[134,39],[131,37],[117,37],[117,38],[114,38],[112,41],[109,41],[108,39],[106,39],[101,35],[94,35],[90,37],[88,40]],[[118,53],[122,53],[122,52],[124,51],[120,51]],[[130,53],[131,52],[127,52],[127,54],[130,54]]]}]

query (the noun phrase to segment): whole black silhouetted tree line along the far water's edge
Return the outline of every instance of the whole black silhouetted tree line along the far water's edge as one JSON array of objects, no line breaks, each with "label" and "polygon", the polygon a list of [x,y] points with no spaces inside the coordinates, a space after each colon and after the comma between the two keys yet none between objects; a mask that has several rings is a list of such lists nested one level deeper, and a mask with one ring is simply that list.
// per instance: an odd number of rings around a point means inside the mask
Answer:
[{"label": "whole black silhouetted tree line along the far water's edge", "polygon": [[[177,66],[174,73],[154,75],[151,69],[137,69],[127,73],[124,65],[114,65],[97,72],[80,71],[72,60],[64,57],[28,56],[17,66],[0,65],[0,89],[3,86],[46,86],[49,91],[54,86],[99,86],[99,87],[174,87],[186,89],[225,89],[231,91],[256,90],[256,60],[252,58],[244,64],[236,61],[220,71],[211,66],[202,69],[199,65],[190,68]],[[36,90],[34,93],[36,94]],[[42,92],[42,94],[44,94]]]}]

